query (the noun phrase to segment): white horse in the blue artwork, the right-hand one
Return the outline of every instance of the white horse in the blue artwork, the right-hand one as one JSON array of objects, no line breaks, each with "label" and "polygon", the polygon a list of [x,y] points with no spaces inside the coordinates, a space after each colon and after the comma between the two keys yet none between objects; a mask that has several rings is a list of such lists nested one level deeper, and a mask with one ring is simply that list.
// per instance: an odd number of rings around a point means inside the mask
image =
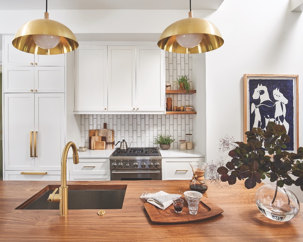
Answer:
[{"label": "white horse in the blue artwork, the right-hand one", "polygon": [[288,104],[288,100],[284,97],[284,95],[280,92],[280,89],[276,88],[273,92],[276,104],[276,111],[275,111],[275,122],[276,124],[281,124],[286,129],[286,134],[288,134],[289,124],[285,120],[286,116],[286,108],[285,104]]}]

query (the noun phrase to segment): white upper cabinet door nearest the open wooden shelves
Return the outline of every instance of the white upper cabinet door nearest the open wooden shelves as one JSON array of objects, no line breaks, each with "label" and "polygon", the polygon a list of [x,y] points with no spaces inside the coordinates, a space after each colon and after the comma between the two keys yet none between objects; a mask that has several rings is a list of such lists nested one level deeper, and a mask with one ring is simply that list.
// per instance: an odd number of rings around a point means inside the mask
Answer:
[{"label": "white upper cabinet door nearest the open wooden shelves", "polygon": [[136,47],[136,102],[138,111],[165,111],[164,50]]}]

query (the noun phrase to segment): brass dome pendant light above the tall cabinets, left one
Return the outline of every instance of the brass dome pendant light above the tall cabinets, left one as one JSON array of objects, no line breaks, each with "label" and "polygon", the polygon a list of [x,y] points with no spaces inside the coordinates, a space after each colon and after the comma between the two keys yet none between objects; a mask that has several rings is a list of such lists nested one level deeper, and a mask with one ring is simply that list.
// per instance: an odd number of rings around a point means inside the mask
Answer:
[{"label": "brass dome pendant light above the tall cabinets, left one", "polygon": [[73,32],[65,25],[48,19],[47,0],[44,19],[36,19],[22,25],[12,44],[18,50],[38,55],[63,54],[78,48]]}]

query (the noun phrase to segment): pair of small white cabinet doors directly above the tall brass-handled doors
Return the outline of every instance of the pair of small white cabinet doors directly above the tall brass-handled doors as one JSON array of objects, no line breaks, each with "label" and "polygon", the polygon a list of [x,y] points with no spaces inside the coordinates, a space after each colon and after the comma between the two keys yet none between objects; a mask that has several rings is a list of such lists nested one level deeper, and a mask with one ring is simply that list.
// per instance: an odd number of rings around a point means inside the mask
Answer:
[{"label": "pair of small white cabinet doors directly above the tall brass-handled doors", "polygon": [[5,66],[5,93],[65,91],[64,66]]}]

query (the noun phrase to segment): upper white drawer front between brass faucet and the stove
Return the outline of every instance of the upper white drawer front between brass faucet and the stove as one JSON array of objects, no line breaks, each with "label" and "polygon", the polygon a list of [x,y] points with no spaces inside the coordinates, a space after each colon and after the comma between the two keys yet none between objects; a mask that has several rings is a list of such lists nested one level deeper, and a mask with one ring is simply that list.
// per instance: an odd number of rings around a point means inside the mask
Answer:
[{"label": "upper white drawer front between brass faucet and the stove", "polygon": [[71,175],[109,175],[109,158],[80,158],[79,164],[69,159]]}]

